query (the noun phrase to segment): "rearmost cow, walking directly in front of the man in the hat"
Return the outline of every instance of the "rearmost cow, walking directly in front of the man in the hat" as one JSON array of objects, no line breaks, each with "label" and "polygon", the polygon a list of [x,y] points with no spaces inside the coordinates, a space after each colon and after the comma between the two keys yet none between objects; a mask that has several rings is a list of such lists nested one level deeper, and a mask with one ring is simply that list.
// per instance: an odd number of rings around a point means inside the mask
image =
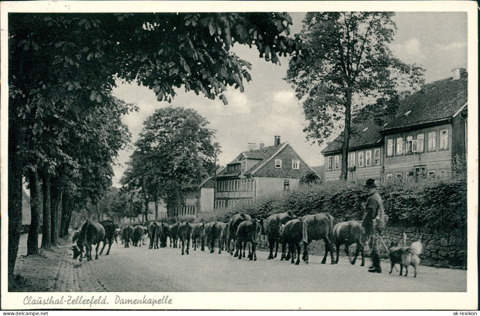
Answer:
[{"label": "rearmost cow, walking directly in front of the man in the hat", "polygon": [[333,228],[333,243],[336,246],[336,260],[335,263],[338,263],[338,253],[340,252],[340,246],[345,244],[345,253],[349,256],[348,247],[351,244],[356,243],[357,249],[353,260],[350,260],[352,265],[355,264],[357,256],[361,253],[361,264],[360,266],[365,266],[365,253],[364,253],[364,244],[362,242],[362,233],[363,227],[360,220],[350,220],[348,222],[338,223]]}]

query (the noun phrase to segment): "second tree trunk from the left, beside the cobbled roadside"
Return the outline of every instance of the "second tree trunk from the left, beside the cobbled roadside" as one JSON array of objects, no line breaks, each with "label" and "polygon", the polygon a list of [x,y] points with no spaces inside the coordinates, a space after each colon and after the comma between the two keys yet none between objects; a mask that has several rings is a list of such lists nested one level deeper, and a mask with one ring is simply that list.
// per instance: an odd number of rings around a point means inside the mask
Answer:
[{"label": "second tree trunk from the left, beside the cobbled roadside", "polygon": [[32,221],[30,222],[30,230],[28,231],[27,255],[38,255],[38,232],[40,230],[40,190],[38,185],[37,170],[30,171],[29,186]]}]

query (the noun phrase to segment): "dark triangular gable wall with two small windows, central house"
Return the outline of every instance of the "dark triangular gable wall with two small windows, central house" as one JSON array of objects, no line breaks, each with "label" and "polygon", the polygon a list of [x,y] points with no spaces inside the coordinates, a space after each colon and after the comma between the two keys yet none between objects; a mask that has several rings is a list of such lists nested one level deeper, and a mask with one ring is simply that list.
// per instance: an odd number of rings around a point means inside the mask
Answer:
[{"label": "dark triangular gable wall with two small windows, central house", "polygon": [[[275,159],[282,159],[282,167],[275,167]],[[299,160],[299,169],[292,169],[292,160]],[[292,147],[286,146],[274,158],[268,161],[260,170],[256,171],[253,176],[259,177],[275,177],[275,178],[296,178],[300,179],[302,175],[310,171],[310,168],[295,153]],[[283,182],[282,182],[283,183]]]}]

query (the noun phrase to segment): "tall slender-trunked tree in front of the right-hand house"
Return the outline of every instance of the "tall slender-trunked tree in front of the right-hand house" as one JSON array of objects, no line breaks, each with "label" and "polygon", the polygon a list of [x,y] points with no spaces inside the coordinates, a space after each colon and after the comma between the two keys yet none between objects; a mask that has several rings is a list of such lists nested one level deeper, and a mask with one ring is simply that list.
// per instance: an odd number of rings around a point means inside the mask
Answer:
[{"label": "tall slender-trunked tree in front of the right-hand house", "polygon": [[[423,83],[423,70],[393,57],[394,12],[309,12],[302,35],[312,52],[294,56],[287,77],[302,99],[307,138],[322,145],[343,127],[341,178],[347,179],[352,115],[398,86]],[[343,124],[339,124],[343,121]],[[343,126],[342,126],[343,125]]]}]

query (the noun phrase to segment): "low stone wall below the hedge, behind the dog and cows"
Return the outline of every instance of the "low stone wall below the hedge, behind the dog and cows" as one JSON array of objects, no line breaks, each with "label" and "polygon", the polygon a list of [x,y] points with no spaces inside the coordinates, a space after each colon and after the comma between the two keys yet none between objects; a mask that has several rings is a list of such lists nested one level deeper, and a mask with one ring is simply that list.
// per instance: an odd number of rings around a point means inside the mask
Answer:
[{"label": "low stone wall below the hedge, behind the dog and cows", "polygon": [[[423,244],[422,253],[420,255],[421,264],[435,267],[467,267],[467,233],[465,231],[435,231],[423,228],[407,228],[407,227],[387,227],[382,233],[382,239],[387,247],[391,242],[403,244],[403,233],[407,235],[407,245],[414,241],[421,240]],[[260,249],[268,251],[268,242],[262,240],[259,245]],[[280,257],[282,246],[279,245],[278,257]],[[340,256],[345,255],[344,246],[340,247]],[[303,250],[302,250],[303,251]],[[312,242],[309,245],[309,254],[324,255],[325,244],[323,241]],[[335,245],[334,245],[335,251]],[[354,253],[355,245],[350,246],[350,254]],[[383,245],[380,246],[381,256],[388,257]],[[274,249],[275,254],[275,249]],[[330,263],[330,256],[327,263]],[[367,255],[368,257],[368,255]],[[342,260],[340,258],[340,260]]]}]

